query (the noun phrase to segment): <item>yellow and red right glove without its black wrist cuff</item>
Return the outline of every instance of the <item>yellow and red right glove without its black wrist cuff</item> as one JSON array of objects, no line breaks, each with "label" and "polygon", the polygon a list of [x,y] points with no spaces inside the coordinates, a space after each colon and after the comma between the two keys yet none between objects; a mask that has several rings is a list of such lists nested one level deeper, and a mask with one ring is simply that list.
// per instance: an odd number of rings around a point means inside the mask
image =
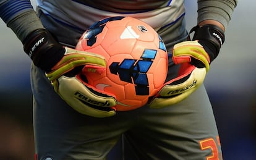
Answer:
[{"label": "yellow and red right glove without its black wrist cuff", "polygon": [[[195,67],[190,64],[192,59],[203,62],[206,67]],[[178,75],[161,88],[150,103],[152,108],[171,106],[186,99],[202,85],[209,69],[208,54],[197,41],[184,41],[174,45],[173,61],[174,64],[181,64]]]}]

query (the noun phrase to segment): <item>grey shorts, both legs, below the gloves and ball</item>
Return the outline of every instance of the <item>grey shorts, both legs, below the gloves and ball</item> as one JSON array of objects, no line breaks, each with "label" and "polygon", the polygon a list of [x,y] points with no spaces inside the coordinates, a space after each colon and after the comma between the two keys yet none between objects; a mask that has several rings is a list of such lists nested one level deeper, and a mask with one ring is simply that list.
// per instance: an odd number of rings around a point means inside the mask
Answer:
[{"label": "grey shorts, both legs, below the gloves and ball", "polygon": [[146,105],[100,119],[68,106],[33,64],[31,83],[37,159],[221,159],[204,86],[173,106]]}]

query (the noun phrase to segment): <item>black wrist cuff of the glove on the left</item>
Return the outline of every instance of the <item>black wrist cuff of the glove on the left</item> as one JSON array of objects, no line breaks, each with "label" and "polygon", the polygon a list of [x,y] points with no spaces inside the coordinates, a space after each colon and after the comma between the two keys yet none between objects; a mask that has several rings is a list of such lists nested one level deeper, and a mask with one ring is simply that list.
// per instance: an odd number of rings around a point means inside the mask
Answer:
[{"label": "black wrist cuff of the glove on the left", "polygon": [[65,49],[47,30],[40,28],[30,33],[22,41],[25,53],[33,63],[50,72],[51,68],[64,56]]}]

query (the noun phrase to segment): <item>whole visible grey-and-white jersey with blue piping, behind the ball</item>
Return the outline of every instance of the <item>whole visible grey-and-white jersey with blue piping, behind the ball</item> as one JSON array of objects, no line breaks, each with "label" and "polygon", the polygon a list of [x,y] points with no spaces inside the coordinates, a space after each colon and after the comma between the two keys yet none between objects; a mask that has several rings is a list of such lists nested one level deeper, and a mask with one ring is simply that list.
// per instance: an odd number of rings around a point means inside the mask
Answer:
[{"label": "whole visible grey-and-white jersey with blue piping, behind the ball", "polygon": [[[130,16],[148,23],[161,36],[168,51],[171,51],[175,43],[187,37],[184,1],[37,0],[37,2],[38,11],[43,12],[47,19],[51,19],[51,23],[55,23],[54,26],[58,26],[58,28],[45,27],[51,28],[53,33],[58,33],[60,43],[71,48],[74,48],[80,35],[90,25],[113,16]],[[59,30],[65,32],[59,33]],[[69,35],[68,40],[66,34]]]}]

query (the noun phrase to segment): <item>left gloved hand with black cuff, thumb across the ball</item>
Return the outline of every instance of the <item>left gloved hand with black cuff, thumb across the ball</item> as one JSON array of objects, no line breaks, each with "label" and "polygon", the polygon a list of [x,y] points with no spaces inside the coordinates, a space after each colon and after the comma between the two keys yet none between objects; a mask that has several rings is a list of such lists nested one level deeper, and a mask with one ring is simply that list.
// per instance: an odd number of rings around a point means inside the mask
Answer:
[{"label": "left gloved hand with black cuff, thumb across the ball", "polygon": [[98,93],[82,83],[79,72],[84,65],[106,67],[103,56],[62,47],[45,29],[30,33],[23,41],[24,51],[33,63],[45,70],[54,90],[76,111],[92,117],[116,114],[113,96]]}]

